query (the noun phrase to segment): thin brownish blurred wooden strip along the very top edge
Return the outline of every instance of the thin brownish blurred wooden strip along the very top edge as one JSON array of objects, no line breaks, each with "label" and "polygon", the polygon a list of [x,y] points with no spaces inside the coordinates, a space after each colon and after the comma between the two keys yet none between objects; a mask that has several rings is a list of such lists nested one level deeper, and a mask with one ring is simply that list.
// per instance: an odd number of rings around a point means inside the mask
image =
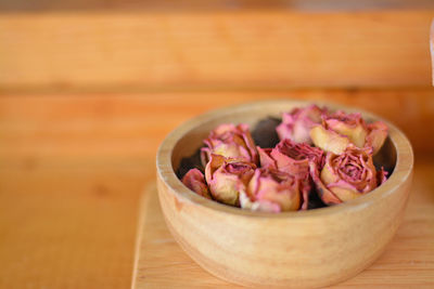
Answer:
[{"label": "thin brownish blurred wooden strip along the very top edge", "polygon": [[152,10],[152,11],[205,11],[205,10],[247,10],[247,9],[296,9],[306,11],[336,10],[382,10],[382,9],[427,9],[433,8],[431,0],[65,0],[37,1],[5,0],[0,2],[0,10],[14,11],[65,11],[65,10]]}]

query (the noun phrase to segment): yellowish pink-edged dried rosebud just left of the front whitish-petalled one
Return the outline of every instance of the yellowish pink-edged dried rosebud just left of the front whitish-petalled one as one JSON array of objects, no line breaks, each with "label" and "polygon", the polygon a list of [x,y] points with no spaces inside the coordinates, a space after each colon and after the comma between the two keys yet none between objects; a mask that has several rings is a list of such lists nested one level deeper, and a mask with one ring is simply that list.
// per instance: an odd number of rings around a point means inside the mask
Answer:
[{"label": "yellowish pink-edged dried rosebud just left of the front whitish-petalled one", "polygon": [[240,191],[245,191],[256,165],[244,159],[210,155],[205,168],[212,196],[224,203],[239,206]]}]

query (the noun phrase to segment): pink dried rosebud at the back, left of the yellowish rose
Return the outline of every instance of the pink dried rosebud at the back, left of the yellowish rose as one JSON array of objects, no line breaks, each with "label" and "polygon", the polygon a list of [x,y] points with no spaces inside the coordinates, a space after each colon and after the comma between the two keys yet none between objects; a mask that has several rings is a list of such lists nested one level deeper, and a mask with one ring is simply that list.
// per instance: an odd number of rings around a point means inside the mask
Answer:
[{"label": "pink dried rosebud at the back, left of the yellowish rose", "polygon": [[321,115],[324,111],[316,105],[310,105],[304,108],[294,108],[291,113],[283,113],[282,122],[276,128],[279,139],[311,144],[310,129],[321,123]]}]

